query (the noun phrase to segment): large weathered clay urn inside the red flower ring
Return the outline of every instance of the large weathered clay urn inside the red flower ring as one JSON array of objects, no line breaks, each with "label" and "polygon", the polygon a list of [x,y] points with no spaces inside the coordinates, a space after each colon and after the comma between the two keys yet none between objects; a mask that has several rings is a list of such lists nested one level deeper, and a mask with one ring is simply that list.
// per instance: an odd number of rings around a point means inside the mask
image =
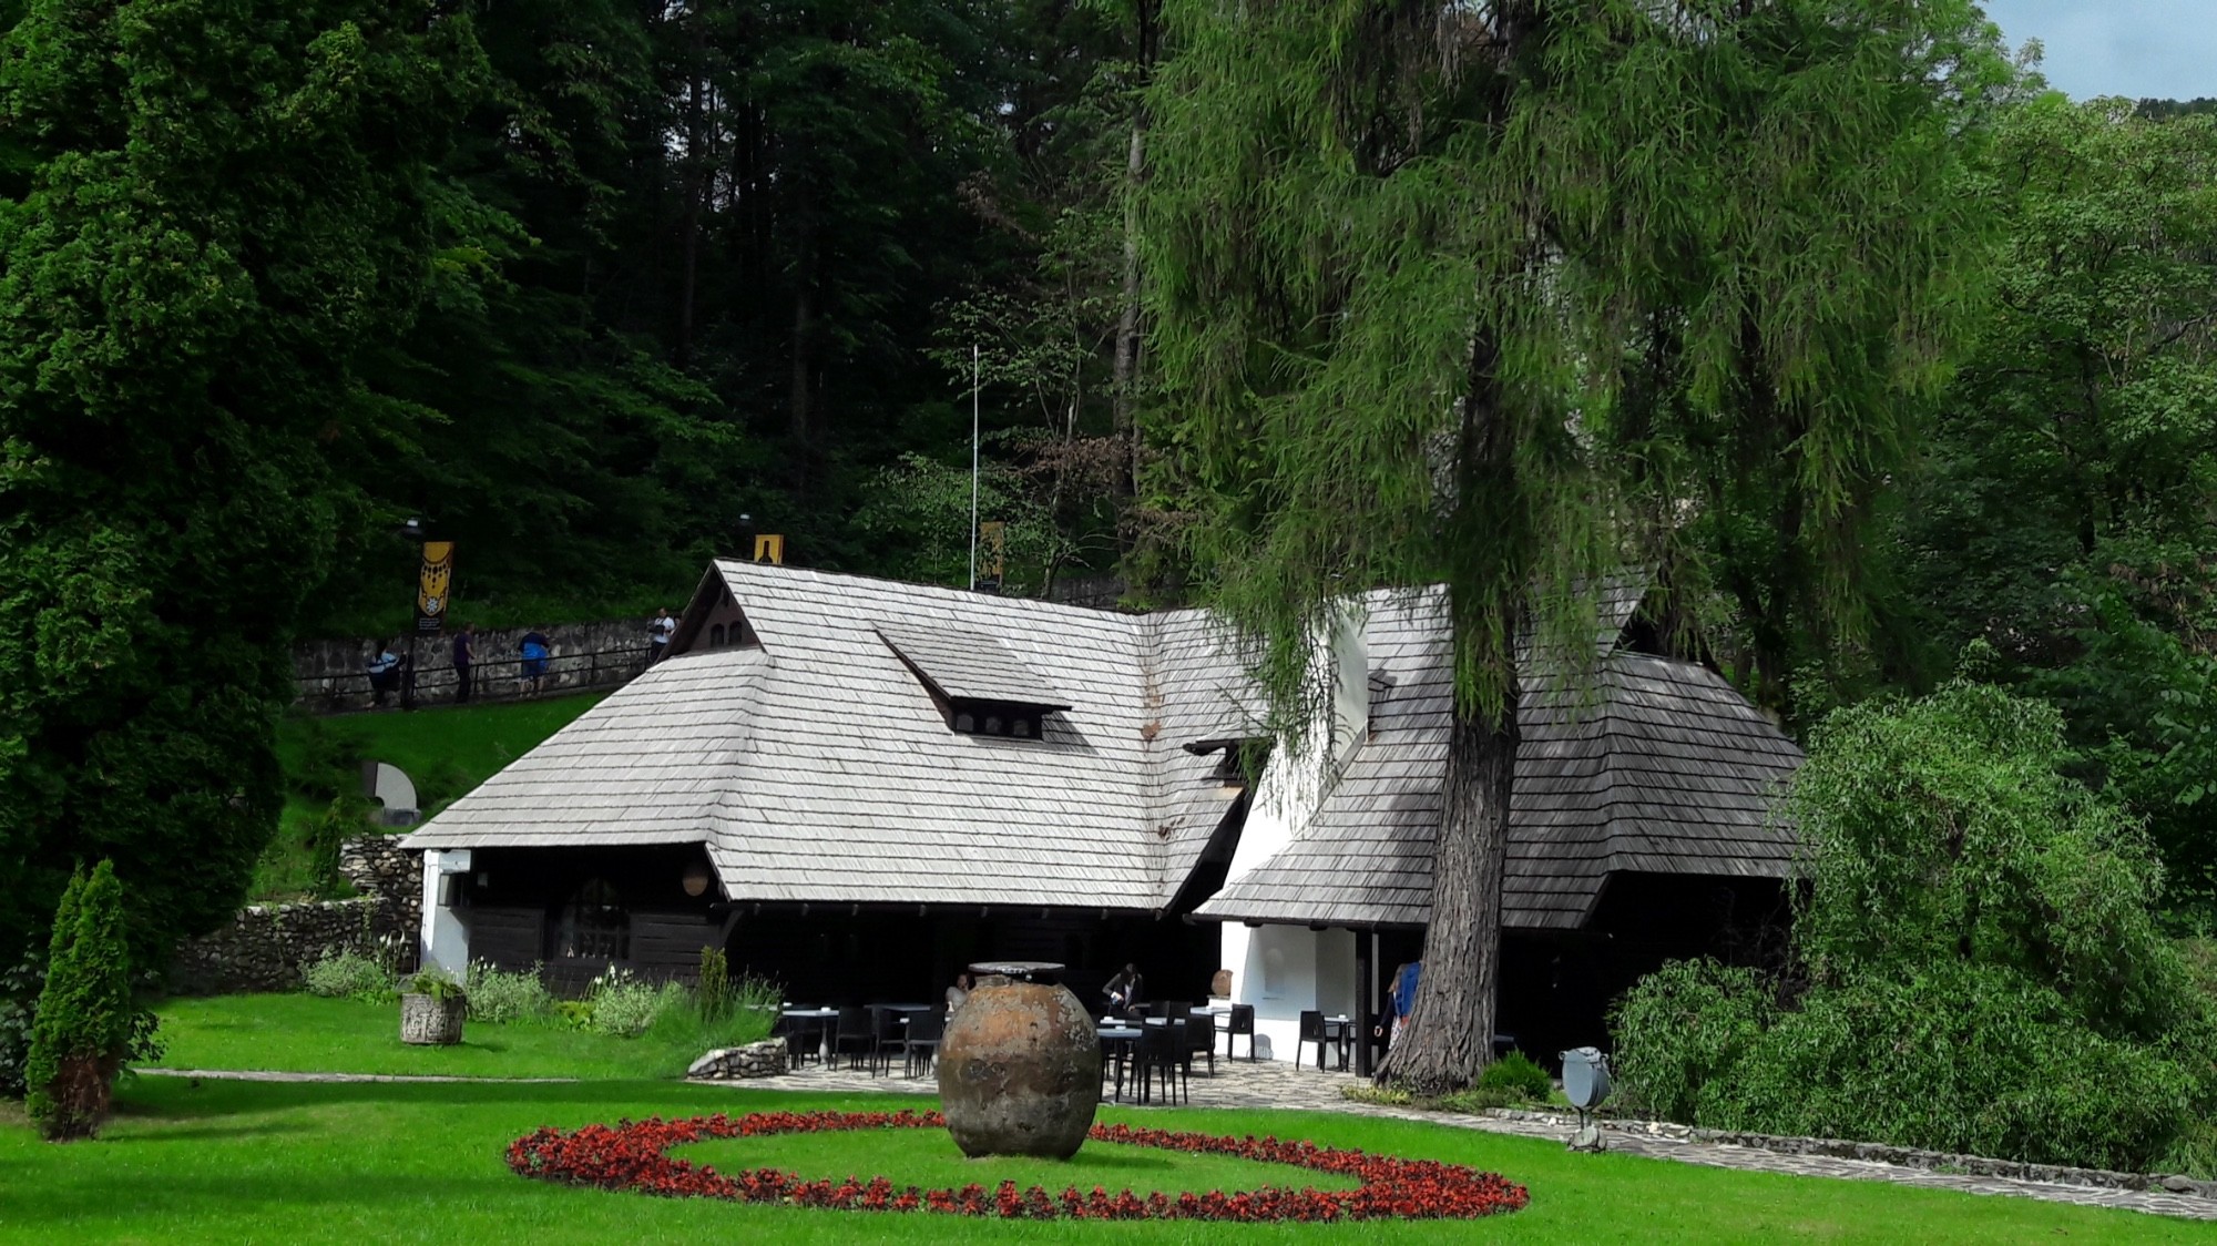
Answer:
[{"label": "large weathered clay urn inside the red flower ring", "polygon": [[[1069,1160],[1102,1102],[1102,1042],[1066,987],[980,964],[940,1038],[940,1111],[964,1155]],[[1060,967],[1024,967],[1060,969]]]}]

